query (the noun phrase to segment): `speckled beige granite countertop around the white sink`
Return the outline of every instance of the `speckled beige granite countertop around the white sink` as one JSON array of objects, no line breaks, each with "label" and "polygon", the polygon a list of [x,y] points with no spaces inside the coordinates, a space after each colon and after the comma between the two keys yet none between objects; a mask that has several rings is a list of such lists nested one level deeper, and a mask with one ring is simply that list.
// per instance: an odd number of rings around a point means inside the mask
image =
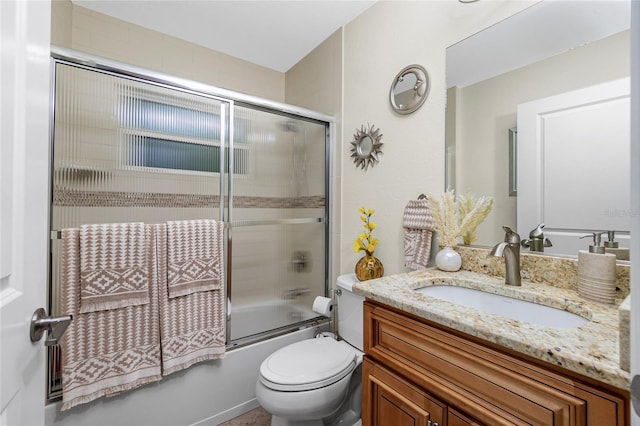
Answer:
[{"label": "speckled beige granite countertop around the white sink", "polygon": [[[577,328],[520,322],[413,291],[435,284],[457,285],[566,310],[589,319]],[[355,293],[438,324],[561,366],[592,379],[629,389],[629,373],[620,369],[618,306],[593,303],[576,291],[523,280],[507,286],[504,278],[469,271],[425,269],[354,284]]]}]

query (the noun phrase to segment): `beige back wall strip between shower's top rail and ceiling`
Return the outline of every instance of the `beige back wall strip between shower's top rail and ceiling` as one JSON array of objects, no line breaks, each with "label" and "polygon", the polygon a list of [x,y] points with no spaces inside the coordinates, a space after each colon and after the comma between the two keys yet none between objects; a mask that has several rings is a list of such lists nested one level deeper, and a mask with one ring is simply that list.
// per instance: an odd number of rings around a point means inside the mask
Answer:
[{"label": "beige back wall strip between shower's top rail and ceiling", "polygon": [[[71,32],[69,34],[69,26]],[[52,43],[236,92],[284,101],[284,73],[55,0]]]}]

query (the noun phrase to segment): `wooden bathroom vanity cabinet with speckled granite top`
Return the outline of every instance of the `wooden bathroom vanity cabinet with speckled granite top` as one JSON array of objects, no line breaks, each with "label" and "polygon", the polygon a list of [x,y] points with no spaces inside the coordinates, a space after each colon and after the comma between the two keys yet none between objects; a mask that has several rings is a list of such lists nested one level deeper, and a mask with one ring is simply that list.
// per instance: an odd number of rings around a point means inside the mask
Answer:
[{"label": "wooden bathroom vanity cabinet with speckled granite top", "polygon": [[[629,424],[617,307],[503,280],[429,269],[354,286],[367,297],[363,425]],[[588,321],[540,325],[416,291],[434,285],[506,294]]]}]

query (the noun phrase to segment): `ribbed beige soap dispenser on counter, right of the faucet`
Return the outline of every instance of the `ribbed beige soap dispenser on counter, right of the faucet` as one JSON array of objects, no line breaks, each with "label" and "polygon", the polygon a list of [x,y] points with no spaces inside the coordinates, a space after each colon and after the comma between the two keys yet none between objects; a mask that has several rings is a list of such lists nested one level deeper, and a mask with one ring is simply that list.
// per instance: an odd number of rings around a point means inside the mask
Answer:
[{"label": "ribbed beige soap dispenser on counter, right of the faucet", "polygon": [[580,238],[593,238],[589,251],[578,251],[578,294],[585,299],[613,304],[616,296],[616,256],[605,253],[600,245],[604,232],[592,232]]}]

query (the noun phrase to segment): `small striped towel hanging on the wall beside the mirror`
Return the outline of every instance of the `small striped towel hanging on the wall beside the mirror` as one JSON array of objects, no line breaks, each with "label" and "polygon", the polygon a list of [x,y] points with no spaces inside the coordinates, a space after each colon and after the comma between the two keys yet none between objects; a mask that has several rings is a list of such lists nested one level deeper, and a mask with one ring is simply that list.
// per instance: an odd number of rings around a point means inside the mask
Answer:
[{"label": "small striped towel hanging on the wall beside the mirror", "polygon": [[411,269],[425,269],[431,254],[431,237],[434,220],[429,202],[410,200],[404,208],[404,266]]}]

